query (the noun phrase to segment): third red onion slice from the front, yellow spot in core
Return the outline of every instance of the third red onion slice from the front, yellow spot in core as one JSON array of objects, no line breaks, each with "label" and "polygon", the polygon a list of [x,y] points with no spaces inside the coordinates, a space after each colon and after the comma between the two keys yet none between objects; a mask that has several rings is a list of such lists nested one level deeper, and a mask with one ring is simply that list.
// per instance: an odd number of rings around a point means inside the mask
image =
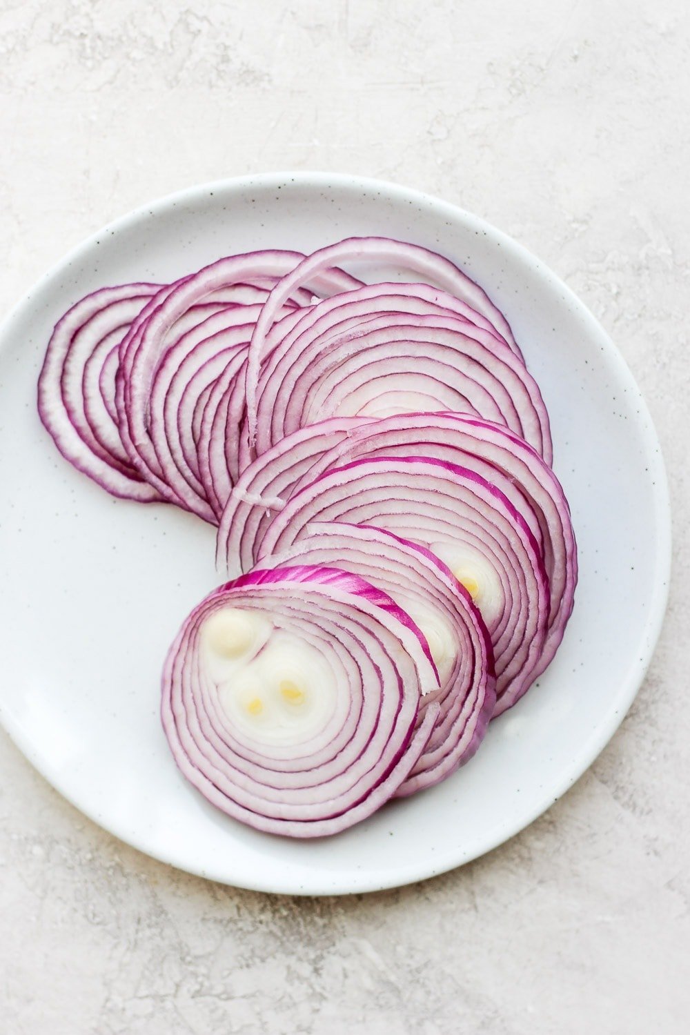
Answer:
[{"label": "third red onion slice from the front, yellow spot in core", "polygon": [[544,646],[548,582],[538,542],[493,484],[428,457],[354,461],[291,498],[267,529],[259,564],[303,538],[317,521],[373,525],[430,548],[469,588],[489,630],[497,709],[524,693]]}]

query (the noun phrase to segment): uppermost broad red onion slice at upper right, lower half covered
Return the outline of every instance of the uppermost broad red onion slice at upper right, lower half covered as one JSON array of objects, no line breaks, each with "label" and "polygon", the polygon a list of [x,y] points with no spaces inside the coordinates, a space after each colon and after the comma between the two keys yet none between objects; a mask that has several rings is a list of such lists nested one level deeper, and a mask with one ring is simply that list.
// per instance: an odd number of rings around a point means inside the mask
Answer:
[{"label": "uppermost broad red onion slice at upper right, lower half covered", "polygon": [[258,455],[326,417],[455,411],[505,424],[550,463],[539,388],[490,334],[474,328],[477,336],[470,336],[468,323],[453,316],[415,316],[413,323],[394,312],[364,322],[329,320],[325,331],[317,321],[295,336],[301,323],[290,334],[292,345],[281,343],[280,358],[271,356],[260,376]]}]

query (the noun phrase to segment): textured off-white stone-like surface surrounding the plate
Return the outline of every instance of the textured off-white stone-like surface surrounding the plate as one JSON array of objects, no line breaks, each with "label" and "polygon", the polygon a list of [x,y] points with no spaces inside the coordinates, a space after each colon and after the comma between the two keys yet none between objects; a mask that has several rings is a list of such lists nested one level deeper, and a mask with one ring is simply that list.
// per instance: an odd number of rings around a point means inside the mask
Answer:
[{"label": "textured off-white stone-like surface surrounding the plate", "polygon": [[2,738],[8,1035],[681,1035],[690,1022],[684,0],[0,0],[5,310],[149,198],[356,172],[485,216],[552,266],[642,388],[676,518],[648,679],[575,788],[489,856],[292,899],[153,862]]}]

